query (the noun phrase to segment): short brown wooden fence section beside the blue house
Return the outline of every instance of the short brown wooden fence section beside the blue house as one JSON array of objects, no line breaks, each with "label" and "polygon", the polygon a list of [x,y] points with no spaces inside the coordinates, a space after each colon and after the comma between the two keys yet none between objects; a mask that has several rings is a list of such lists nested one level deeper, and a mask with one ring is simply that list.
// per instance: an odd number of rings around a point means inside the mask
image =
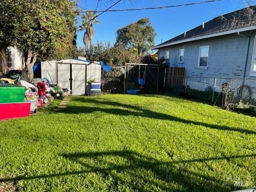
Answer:
[{"label": "short brown wooden fence section beside the blue house", "polygon": [[182,85],[184,74],[184,67],[169,67],[167,73],[167,87],[172,88],[177,85]]}]

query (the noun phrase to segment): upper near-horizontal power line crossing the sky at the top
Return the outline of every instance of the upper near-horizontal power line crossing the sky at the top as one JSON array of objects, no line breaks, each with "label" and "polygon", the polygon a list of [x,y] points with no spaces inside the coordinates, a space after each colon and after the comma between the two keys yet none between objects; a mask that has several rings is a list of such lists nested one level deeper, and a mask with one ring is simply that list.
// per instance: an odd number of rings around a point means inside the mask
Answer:
[{"label": "upper near-horizontal power line crossing the sky at the top", "polygon": [[210,1],[203,1],[203,2],[197,2],[197,3],[188,3],[188,4],[181,4],[181,5],[170,5],[170,6],[161,6],[161,7],[149,7],[149,8],[136,8],[136,9],[120,9],[120,10],[86,10],[86,11],[81,11],[78,13],[86,13],[86,12],[117,12],[117,11],[138,11],[138,10],[150,10],[150,9],[162,9],[162,8],[171,8],[171,7],[181,7],[181,6],[189,6],[189,5],[198,5],[198,4],[203,4],[203,3],[210,3],[210,2],[217,2],[221,0],[210,0]]}]

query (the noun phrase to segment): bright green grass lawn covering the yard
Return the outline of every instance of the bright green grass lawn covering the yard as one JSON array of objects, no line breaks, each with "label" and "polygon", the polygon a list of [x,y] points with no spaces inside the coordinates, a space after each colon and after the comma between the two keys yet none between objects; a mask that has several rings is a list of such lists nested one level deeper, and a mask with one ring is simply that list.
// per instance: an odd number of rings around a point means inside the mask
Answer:
[{"label": "bright green grass lawn covering the yard", "polygon": [[256,118],[168,95],[73,96],[0,122],[0,191],[230,191],[256,182]]}]

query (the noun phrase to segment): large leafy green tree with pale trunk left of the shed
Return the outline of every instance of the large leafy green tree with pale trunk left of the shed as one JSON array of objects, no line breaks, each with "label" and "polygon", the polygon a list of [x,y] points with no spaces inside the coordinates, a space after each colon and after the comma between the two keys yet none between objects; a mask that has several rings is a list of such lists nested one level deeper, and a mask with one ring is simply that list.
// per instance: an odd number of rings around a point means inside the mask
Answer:
[{"label": "large leafy green tree with pale trunk left of the shed", "polygon": [[3,0],[0,2],[0,49],[17,46],[27,52],[30,79],[40,58],[64,58],[75,37],[72,0]]}]

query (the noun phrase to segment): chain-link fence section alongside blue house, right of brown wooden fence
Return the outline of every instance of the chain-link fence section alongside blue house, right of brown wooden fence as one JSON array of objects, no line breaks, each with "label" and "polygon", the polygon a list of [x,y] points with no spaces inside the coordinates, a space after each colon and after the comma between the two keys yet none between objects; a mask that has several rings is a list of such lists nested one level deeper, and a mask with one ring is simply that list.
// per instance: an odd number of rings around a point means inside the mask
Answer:
[{"label": "chain-link fence section alongside blue house, right of brown wooden fence", "polygon": [[197,98],[223,108],[256,106],[255,78],[171,76],[170,90],[186,98]]}]

